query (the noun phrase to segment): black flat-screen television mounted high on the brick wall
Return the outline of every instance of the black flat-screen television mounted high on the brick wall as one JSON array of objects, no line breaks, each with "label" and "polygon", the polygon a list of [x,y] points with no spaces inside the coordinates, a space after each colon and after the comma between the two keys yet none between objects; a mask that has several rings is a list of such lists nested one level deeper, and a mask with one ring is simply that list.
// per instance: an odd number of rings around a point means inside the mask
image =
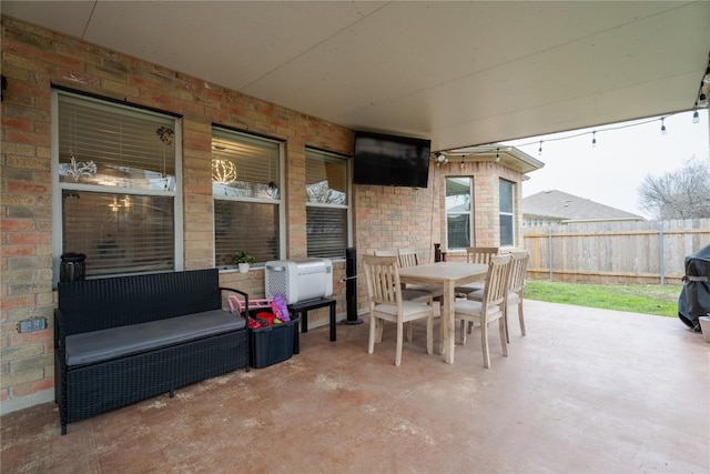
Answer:
[{"label": "black flat-screen television mounted high on the brick wall", "polygon": [[355,132],[353,183],[426,188],[432,141]]}]

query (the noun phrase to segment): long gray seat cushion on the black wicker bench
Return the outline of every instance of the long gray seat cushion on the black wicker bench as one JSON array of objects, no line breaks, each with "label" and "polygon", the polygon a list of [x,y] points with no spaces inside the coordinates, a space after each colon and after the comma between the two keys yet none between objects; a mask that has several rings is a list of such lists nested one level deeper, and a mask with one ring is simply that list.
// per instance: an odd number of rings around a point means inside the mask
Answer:
[{"label": "long gray seat cushion on the black wicker bench", "polygon": [[67,336],[67,365],[109,361],[191,340],[241,330],[246,322],[222,310]]}]

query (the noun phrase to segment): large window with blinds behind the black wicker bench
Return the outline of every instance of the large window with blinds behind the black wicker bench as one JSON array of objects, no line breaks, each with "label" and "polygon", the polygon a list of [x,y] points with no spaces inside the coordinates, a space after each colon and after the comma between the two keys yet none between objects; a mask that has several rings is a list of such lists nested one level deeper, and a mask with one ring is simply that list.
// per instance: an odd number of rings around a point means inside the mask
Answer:
[{"label": "large window with blinds behind the black wicker bench", "polygon": [[176,120],[67,92],[54,97],[57,260],[85,254],[89,278],[179,270]]}]

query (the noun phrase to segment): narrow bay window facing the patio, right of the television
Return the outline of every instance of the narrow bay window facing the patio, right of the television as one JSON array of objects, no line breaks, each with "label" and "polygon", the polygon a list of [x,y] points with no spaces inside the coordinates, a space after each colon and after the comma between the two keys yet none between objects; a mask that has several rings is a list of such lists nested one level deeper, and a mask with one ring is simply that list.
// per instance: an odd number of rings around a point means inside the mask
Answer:
[{"label": "narrow bay window facing the patio, right of the television", "polygon": [[446,179],[446,242],[448,250],[471,246],[474,206],[470,178]]}]

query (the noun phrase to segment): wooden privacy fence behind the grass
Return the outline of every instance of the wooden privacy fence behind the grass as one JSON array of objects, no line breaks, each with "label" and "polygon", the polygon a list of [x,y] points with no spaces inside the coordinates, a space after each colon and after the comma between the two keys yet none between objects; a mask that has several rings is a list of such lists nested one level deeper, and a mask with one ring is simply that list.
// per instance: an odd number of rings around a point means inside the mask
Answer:
[{"label": "wooden privacy fence behind the grass", "polygon": [[710,219],[531,226],[524,243],[536,280],[681,284],[686,255],[710,244]]}]

